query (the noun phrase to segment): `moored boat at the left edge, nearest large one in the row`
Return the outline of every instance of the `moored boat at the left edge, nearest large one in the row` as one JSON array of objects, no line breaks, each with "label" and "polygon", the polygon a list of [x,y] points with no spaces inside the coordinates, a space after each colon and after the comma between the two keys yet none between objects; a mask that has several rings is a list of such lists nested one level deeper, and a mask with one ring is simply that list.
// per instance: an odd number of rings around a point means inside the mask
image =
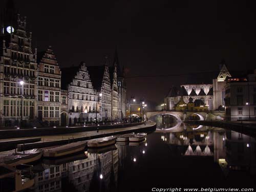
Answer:
[{"label": "moored boat at the left edge, nearest large one in the row", "polygon": [[42,150],[34,149],[34,150],[27,150],[18,153],[10,154],[3,154],[0,156],[0,164],[4,163],[10,166],[16,166],[19,164],[28,164],[34,161],[41,159],[42,157]]}]

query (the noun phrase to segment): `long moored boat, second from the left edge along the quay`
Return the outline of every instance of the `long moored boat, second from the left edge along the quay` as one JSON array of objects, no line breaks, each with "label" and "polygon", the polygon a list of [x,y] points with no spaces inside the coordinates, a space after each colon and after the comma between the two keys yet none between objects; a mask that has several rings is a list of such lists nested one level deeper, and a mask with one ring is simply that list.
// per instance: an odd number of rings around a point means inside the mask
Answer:
[{"label": "long moored boat, second from the left edge along the quay", "polygon": [[61,157],[74,153],[78,153],[84,150],[87,146],[87,141],[78,141],[69,143],[66,145],[50,148],[44,151],[44,157]]}]

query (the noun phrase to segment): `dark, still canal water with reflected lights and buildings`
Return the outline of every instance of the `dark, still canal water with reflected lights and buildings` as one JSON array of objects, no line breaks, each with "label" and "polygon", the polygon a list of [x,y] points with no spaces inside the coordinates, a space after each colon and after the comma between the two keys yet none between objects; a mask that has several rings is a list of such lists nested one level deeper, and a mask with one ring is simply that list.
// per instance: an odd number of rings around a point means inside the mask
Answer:
[{"label": "dark, still canal water with reflected lights and buildings", "polygon": [[[168,119],[169,118],[169,119]],[[117,143],[33,166],[31,191],[152,191],[153,187],[254,188],[256,141],[218,127],[159,118],[141,143]],[[173,128],[171,128],[173,127]]]}]

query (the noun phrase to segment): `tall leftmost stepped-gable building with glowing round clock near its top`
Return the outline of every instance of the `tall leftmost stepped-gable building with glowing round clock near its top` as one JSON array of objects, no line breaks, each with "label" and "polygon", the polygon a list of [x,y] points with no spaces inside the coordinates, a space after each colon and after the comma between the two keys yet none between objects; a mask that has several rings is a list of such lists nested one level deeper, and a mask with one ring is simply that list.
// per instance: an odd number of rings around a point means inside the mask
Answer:
[{"label": "tall leftmost stepped-gable building with glowing round clock near its top", "polygon": [[18,125],[37,116],[37,53],[26,17],[7,8],[1,19],[0,119],[2,126]]}]

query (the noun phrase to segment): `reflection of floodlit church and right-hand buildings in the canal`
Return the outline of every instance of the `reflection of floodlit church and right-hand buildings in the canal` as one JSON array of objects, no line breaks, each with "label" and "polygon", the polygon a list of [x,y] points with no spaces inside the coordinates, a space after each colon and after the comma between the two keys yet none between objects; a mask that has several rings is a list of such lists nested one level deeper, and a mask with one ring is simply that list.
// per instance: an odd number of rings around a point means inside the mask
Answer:
[{"label": "reflection of floodlit church and right-hand buildings in the canal", "polygon": [[[170,151],[180,156],[212,156],[225,173],[230,170],[248,170],[256,174],[256,141],[254,138],[224,129],[208,126],[184,125],[182,131],[163,132],[161,140]],[[181,130],[181,129],[177,129]]]}]

